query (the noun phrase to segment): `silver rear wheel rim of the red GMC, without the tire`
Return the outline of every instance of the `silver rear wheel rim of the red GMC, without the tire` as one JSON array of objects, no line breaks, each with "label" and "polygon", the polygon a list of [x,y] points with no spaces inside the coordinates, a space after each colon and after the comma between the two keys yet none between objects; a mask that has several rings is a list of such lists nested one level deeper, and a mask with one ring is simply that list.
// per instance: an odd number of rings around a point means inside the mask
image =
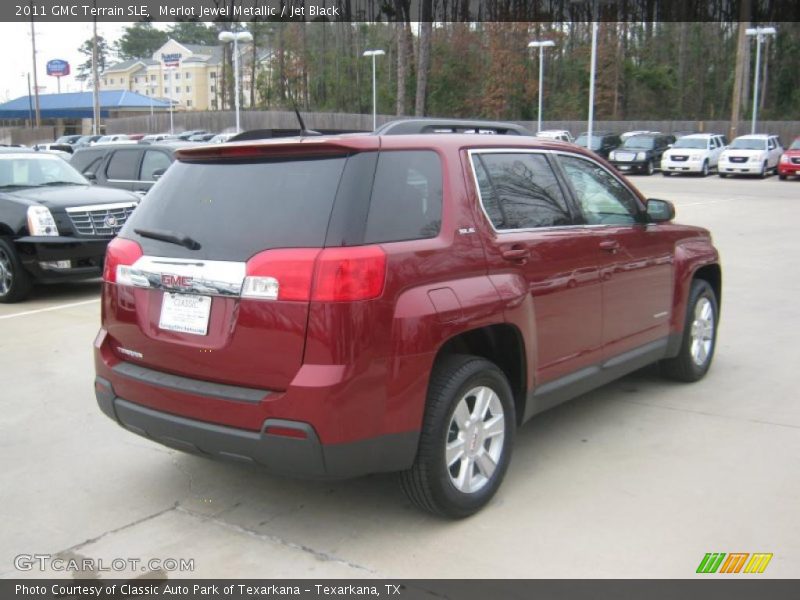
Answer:
[{"label": "silver rear wheel rim of the red GMC, without the tire", "polygon": [[447,431],[446,468],[460,492],[474,493],[492,478],[503,453],[505,415],[495,391],[469,390],[456,404]]}]

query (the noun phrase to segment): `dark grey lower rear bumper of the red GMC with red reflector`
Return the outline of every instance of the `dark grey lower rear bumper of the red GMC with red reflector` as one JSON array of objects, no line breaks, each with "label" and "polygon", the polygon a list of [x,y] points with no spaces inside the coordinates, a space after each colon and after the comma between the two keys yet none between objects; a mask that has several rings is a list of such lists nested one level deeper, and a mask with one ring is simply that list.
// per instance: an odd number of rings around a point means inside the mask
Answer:
[{"label": "dark grey lower rear bumper of the red GMC with red reflector", "polygon": [[[322,444],[309,423],[269,418],[260,431],[207,423],[154,410],[121,398],[111,381],[95,379],[97,404],[122,427],[165,446],[209,458],[265,467],[304,479],[348,479],[411,466],[418,432],[391,433]],[[276,433],[272,433],[272,432]]]}]

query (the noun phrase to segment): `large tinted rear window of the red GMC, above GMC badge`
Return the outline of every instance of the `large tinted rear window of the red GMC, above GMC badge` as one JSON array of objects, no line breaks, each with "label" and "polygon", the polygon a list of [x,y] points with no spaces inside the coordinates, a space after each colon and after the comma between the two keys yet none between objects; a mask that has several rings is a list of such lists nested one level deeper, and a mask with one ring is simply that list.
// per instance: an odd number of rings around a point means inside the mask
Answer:
[{"label": "large tinted rear window of the red GMC, above GMC badge", "polygon": [[[322,247],[346,158],[175,162],[122,231],[145,254],[245,261],[270,248]],[[143,238],[167,230],[200,244],[189,250]]]}]

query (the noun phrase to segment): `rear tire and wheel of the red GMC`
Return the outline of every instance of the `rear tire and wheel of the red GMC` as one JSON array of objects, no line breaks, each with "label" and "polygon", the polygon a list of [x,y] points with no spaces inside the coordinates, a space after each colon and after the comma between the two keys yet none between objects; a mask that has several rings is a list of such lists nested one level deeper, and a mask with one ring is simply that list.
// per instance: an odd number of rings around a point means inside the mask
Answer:
[{"label": "rear tire and wheel of the red GMC", "polygon": [[445,357],[431,376],[417,457],[401,474],[403,491],[437,515],[476,513],[503,481],[515,429],[503,372],[476,356]]}]

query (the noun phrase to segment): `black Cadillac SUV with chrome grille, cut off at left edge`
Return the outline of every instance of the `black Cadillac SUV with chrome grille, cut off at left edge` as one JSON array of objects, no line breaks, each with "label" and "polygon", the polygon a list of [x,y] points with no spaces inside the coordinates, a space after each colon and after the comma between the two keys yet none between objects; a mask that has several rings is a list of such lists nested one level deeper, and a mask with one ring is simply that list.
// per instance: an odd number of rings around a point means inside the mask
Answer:
[{"label": "black Cadillac SUV with chrome grille, cut off at left edge", "polygon": [[137,201],[48,152],[0,150],[0,302],[24,300],[34,282],[99,276]]}]

